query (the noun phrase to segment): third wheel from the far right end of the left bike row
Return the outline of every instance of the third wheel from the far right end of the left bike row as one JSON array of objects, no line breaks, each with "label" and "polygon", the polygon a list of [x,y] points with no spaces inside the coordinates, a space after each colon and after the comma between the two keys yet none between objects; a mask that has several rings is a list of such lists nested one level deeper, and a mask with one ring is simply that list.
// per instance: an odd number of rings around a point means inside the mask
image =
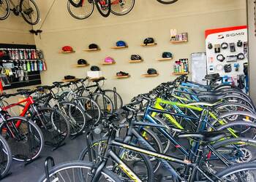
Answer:
[{"label": "third wheel from the far right end of the left bike row", "polygon": [[86,122],[91,122],[92,124],[97,124],[99,122],[99,119],[101,119],[101,110],[95,100],[88,97],[81,97],[75,99],[73,102],[84,109],[87,119]]}]

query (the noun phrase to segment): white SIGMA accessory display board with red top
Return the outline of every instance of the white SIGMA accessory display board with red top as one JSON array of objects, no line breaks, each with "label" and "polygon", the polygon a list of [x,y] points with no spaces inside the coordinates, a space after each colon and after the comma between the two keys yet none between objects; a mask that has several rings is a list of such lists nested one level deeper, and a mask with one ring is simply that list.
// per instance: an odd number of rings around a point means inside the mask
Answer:
[{"label": "white SIGMA accessory display board with red top", "polygon": [[248,90],[247,26],[206,30],[207,74],[219,74],[222,83]]}]

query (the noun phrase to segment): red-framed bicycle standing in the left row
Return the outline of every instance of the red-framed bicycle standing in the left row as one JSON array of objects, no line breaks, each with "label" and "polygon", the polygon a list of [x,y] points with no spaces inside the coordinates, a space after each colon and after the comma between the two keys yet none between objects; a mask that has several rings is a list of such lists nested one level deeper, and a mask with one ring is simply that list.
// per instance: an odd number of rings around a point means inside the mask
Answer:
[{"label": "red-framed bicycle standing in the left row", "polygon": [[[18,90],[20,95],[25,95],[26,99],[18,103],[4,107],[9,109],[14,106],[20,106],[22,112],[20,116],[29,116],[32,122],[36,123],[42,130],[45,138],[45,144],[53,146],[54,149],[61,146],[69,137],[70,127],[69,122],[63,114],[53,108],[42,108],[37,105],[37,102],[30,96],[39,90]],[[25,103],[25,105],[23,105]],[[18,127],[17,122],[17,127]]]}]

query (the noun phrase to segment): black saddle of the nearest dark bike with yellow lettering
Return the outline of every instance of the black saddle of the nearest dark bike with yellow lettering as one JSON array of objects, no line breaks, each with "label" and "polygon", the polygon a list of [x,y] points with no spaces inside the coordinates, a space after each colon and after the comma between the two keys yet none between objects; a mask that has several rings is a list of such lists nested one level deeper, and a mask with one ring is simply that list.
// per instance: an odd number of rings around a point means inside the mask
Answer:
[{"label": "black saddle of the nearest dark bike with yellow lettering", "polygon": [[226,132],[223,131],[213,131],[213,132],[188,132],[185,134],[178,135],[178,138],[192,138],[193,140],[203,141],[203,142],[213,142],[219,141],[220,139],[227,136]]}]

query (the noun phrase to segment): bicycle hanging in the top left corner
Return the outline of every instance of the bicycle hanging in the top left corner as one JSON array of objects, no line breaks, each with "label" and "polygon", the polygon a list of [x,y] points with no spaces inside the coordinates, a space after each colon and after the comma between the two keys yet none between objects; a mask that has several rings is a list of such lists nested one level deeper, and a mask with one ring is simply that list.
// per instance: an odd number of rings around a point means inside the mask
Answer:
[{"label": "bicycle hanging in the top left corner", "polygon": [[11,11],[15,16],[21,15],[30,25],[39,22],[39,9],[33,0],[19,0],[18,5],[12,0],[0,0],[0,20],[7,19]]}]

